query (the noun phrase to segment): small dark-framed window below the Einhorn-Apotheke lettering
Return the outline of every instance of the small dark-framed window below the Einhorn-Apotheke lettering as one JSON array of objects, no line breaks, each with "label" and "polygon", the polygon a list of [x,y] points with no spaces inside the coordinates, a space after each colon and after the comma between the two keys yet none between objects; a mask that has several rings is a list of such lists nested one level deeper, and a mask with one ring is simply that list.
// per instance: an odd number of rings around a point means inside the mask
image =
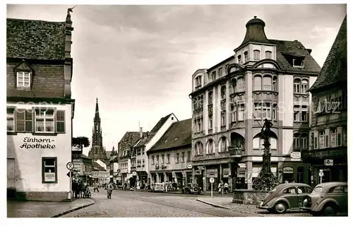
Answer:
[{"label": "small dark-framed window below the Einhorn-Apotheke lettering", "polygon": [[42,157],[42,183],[57,183],[57,158]]}]

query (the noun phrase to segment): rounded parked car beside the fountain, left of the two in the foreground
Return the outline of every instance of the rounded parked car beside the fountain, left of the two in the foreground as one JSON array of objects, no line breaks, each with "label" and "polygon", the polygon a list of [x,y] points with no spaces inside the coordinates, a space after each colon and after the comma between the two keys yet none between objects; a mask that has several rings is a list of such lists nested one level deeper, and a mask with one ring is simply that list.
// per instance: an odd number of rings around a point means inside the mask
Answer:
[{"label": "rounded parked car beside the fountain, left of the two in the foreground", "polygon": [[268,210],[270,213],[285,213],[288,209],[299,209],[311,191],[313,189],[308,184],[279,184],[268,192],[258,208]]}]

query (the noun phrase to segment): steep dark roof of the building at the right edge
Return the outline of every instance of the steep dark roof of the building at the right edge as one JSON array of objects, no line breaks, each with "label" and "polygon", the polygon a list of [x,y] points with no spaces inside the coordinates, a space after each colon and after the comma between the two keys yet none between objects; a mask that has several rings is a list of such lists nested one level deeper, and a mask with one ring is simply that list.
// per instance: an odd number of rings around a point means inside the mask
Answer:
[{"label": "steep dark roof of the building at the right edge", "polygon": [[344,82],[347,85],[347,16],[338,30],[318,78],[310,91]]}]

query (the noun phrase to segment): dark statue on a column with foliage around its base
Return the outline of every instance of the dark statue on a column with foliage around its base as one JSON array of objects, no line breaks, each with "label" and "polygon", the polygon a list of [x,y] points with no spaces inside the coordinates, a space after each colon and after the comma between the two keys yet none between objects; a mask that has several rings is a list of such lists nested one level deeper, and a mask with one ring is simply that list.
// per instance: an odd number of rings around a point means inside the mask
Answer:
[{"label": "dark statue on a column with foliage around its base", "polygon": [[279,184],[277,177],[271,172],[270,134],[273,123],[265,119],[261,129],[261,139],[263,139],[263,167],[258,177],[253,181],[253,189],[269,191]]}]

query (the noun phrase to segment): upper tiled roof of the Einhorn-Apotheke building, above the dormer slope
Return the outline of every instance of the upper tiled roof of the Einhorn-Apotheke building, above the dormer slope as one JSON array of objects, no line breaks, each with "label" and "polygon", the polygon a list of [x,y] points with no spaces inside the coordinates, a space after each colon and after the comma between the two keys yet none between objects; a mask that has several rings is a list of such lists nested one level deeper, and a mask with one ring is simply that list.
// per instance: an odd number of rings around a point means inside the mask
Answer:
[{"label": "upper tiled roof of the Einhorn-Apotheke building, above the dormer slope", "polygon": [[6,20],[6,57],[65,59],[66,22]]}]

